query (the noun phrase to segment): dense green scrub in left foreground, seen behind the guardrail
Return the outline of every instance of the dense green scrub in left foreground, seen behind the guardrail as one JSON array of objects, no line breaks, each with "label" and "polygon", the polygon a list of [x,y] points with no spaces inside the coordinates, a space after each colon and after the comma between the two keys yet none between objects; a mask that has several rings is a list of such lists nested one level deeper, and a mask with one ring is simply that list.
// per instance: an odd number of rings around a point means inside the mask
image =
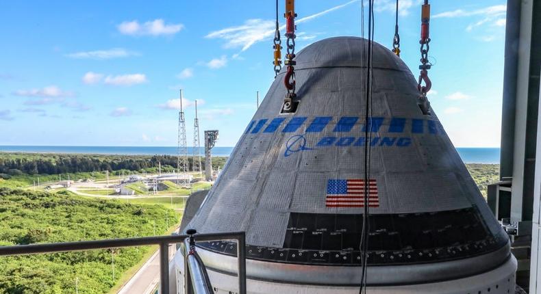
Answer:
[{"label": "dense green scrub in left foreground, seen behind the guardrail", "polygon": [[[167,222],[179,218],[162,205],[0,188],[0,245],[160,235]],[[0,293],[75,293],[76,281],[79,293],[107,293],[148,253],[140,247],[2,257]]]}]

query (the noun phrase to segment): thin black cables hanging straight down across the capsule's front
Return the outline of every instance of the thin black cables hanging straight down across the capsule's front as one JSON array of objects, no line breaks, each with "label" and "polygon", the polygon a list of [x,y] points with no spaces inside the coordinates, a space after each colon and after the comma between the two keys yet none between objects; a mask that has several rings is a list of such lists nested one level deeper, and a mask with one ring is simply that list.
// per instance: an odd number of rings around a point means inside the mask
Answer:
[{"label": "thin black cables hanging straight down across the capsule's front", "polygon": [[[363,23],[364,27],[364,23]],[[372,141],[372,69],[374,40],[374,1],[368,0],[368,50],[366,55],[366,109],[364,122],[364,213],[361,236],[362,272],[359,293],[366,293],[368,237],[370,235],[370,142]],[[363,54],[364,55],[364,54]]]}]

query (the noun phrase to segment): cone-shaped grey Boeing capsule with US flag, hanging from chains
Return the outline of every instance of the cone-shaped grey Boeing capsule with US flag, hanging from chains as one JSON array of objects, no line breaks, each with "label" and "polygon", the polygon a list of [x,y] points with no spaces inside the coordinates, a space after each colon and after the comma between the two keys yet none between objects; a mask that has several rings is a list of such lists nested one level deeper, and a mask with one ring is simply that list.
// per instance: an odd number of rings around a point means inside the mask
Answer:
[{"label": "cone-shaped grey Boeing capsule with US flag, hanging from chains", "polygon": [[[246,232],[248,293],[358,293],[368,205],[368,293],[514,293],[507,235],[420,109],[412,72],[376,43],[365,123],[366,46],[329,38],[298,53],[297,108],[283,111],[282,70],[186,228]],[[236,293],[236,244],[197,252],[216,293]]]}]

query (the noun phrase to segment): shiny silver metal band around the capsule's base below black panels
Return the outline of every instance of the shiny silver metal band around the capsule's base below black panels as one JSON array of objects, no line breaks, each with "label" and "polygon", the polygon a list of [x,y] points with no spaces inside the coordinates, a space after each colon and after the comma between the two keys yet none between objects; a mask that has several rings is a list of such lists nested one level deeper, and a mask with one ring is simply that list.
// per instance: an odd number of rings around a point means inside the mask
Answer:
[{"label": "shiny silver metal band around the capsule's base below black panels", "polygon": [[[208,269],[236,275],[236,258],[197,248],[199,256]],[[404,285],[453,280],[490,271],[510,258],[509,248],[501,248],[490,254],[469,260],[453,260],[443,263],[421,265],[395,265],[369,267],[367,284]],[[472,266],[475,265],[475,266]],[[361,279],[359,267],[287,265],[260,260],[247,260],[247,278],[251,280],[279,281],[294,284],[358,285]]]}]

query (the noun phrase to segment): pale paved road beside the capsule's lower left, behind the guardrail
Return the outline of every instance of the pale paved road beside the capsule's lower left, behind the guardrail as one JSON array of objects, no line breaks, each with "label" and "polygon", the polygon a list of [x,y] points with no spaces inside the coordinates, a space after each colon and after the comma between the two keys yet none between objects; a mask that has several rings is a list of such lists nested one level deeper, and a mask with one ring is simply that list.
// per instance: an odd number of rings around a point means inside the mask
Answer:
[{"label": "pale paved road beside the capsule's lower left, behind the guardrail", "polygon": [[[175,255],[175,245],[169,245],[169,260]],[[160,250],[151,256],[118,294],[150,294],[160,284]]]}]

